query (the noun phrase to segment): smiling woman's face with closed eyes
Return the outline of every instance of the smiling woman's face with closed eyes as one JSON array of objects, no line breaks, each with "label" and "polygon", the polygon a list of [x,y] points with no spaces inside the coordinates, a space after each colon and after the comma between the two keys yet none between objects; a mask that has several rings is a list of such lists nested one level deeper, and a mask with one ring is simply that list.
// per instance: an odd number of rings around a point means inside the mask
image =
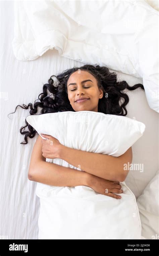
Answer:
[{"label": "smiling woman's face with closed eyes", "polygon": [[[98,88],[97,80],[85,70],[77,70],[70,75],[67,81],[68,99],[74,111],[98,112],[99,98],[103,91]],[[87,98],[77,101],[79,98]]]}]

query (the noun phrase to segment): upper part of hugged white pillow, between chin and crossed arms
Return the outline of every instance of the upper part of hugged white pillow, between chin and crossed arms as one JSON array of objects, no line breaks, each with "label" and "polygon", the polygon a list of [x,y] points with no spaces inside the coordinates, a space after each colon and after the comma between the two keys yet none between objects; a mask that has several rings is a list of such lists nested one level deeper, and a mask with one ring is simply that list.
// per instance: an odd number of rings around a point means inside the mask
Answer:
[{"label": "upper part of hugged white pillow, between chin and crossed arms", "polygon": [[114,157],[125,153],[145,131],[145,124],[137,120],[94,111],[30,115],[26,120],[38,134],[49,134],[67,147]]}]

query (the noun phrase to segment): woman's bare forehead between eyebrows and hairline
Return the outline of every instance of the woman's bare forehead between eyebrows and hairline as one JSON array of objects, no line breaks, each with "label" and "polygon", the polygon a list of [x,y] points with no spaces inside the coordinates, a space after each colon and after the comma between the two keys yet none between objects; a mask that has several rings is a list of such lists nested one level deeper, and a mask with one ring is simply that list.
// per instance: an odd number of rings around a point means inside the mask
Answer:
[{"label": "woman's bare forehead between eyebrows and hairline", "polygon": [[72,73],[67,81],[67,84],[69,83],[75,83],[76,81],[83,81],[86,79],[91,79],[93,82],[96,81],[95,77],[91,75],[89,72],[81,70],[80,72],[77,70],[74,73]]}]

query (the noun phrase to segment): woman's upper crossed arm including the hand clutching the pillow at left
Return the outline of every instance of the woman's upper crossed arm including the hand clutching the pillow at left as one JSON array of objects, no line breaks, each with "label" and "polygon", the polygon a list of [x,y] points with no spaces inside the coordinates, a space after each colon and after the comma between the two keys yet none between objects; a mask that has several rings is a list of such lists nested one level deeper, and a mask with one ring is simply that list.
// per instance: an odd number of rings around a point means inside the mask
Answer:
[{"label": "woman's upper crossed arm including the hand clutching the pillow at left", "polygon": [[128,174],[124,164],[132,162],[131,147],[119,157],[113,157],[107,154],[69,148],[50,135],[42,134],[42,136],[47,139],[41,141],[43,157],[63,159],[87,173],[107,180],[124,181]]}]

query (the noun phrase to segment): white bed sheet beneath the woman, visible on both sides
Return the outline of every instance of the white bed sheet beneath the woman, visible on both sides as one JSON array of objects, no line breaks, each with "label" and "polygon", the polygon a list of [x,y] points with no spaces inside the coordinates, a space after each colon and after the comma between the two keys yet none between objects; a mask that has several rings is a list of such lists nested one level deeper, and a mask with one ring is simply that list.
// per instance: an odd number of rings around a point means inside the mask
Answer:
[{"label": "white bed sheet beneath the woman, visible on both sides", "polygon": [[[35,194],[36,182],[28,179],[28,168],[34,143],[38,137],[21,145],[24,136],[19,133],[29,110],[15,107],[23,103],[34,103],[42,92],[43,84],[51,75],[83,63],[60,57],[58,51],[49,50],[33,61],[15,58],[13,39],[13,1],[1,1],[1,230],[0,235],[8,239],[38,239],[39,198]],[[111,70],[112,71],[112,70]],[[115,70],[113,70],[115,71]],[[142,80],[116,72],[120,80],[130,85]],[[141,195],[158,168],[158,113],[150,109],[145,92],[141,89],[127,92],[129,118],[145,123],[142,138],[133,145],[133,162],[143,163],[144,172],[130,171],[126,184],[136,198]]]}]

